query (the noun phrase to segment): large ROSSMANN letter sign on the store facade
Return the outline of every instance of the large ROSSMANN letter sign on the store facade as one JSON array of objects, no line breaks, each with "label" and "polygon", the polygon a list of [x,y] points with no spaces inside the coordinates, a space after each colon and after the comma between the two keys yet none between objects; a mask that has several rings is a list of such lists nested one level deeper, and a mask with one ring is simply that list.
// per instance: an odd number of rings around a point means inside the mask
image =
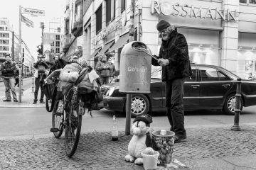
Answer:
[{"label": "large ROSSMANN letter sign on the store facade", "polygon": [[237,21],[238,12],[230,9],[222,10],[210,8],[209,6],[193,6],[188,4],[171,3],[171,1],[151,1],[151,13],[163,14],[165,16],[182,16],[193,18],[210,18],[213,20]]}]

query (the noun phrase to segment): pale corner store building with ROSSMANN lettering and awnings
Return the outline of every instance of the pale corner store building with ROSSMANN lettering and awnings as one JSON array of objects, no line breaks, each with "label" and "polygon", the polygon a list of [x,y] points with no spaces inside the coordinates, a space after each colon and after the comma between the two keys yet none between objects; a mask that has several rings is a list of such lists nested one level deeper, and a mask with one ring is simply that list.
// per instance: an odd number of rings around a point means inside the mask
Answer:
[{"label": "pale corner store building with ROSSMANN lettering and awnings", "polygon": [[[81,57],[95,66],[97,57],[105,53],[107,57],[113,57],[119,70],[120,52],[129,40],[131,1],[82,0],[79,3],[83,8]],[[65,19],[70,21],[70,16]],[[161,19],[169,21],[176,26],[178,33],[185,35],[191,62],[218,65],[245,79],[255,77],[254,0],[136,1],[135,39],[146,43],[154,55],[158,55],[161,46],[156,30]],[[68,31],[70,29],[72,27]],[[80,45],[77,42],[68,54],[75,52]]]}]

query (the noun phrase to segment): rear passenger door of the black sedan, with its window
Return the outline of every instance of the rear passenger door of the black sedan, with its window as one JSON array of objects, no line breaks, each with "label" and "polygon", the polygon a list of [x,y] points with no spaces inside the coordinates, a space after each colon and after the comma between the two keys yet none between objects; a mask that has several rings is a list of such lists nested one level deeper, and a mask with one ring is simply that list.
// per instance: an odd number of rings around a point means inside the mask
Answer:
[{"label": "rear passenger door of the black sedan, with its window", "polygon": [[224,96],[233,86],[233,81],[215,67],[200,66],[201,75],[200,106],[221,106]]}]

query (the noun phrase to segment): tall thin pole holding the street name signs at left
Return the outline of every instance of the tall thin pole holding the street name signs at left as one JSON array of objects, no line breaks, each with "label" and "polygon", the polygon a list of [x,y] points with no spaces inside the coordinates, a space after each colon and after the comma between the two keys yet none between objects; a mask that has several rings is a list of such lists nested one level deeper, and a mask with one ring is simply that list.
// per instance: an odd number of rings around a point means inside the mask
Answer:
[{"label": "tall thin pole holding the street name signs at left", "polygon": [[22,72],[22,59],[21,59],[21,6],[19,6],[19,21],[18,21],[18,103],[21,103],[21,89],[22,89],[22,84],[21,84],[21,72]]}]

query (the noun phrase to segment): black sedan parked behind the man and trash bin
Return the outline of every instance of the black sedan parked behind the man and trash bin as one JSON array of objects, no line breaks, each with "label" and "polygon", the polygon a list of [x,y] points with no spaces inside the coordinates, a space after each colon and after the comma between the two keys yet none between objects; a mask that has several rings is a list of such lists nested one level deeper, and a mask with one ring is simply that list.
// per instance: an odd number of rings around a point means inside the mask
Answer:
[{"label": "black sedan parked behind the man and trash bin", "polygon": [[[218,110],[228,115],[235,113],[235,93],[238,76],[222,67],[192,64],[193,75],[184,83],[183,103],[188,110]],[[256,105],[256,81],[242,79],[241,109]],[[129,82],[127,82],[128,84]],[[166,111],[165,83],[161,68],[151,73],[151,93],[132,95],[132,116]],[[125,113],[126,94],[119,93],[119,82],[102,86],[104,108]]]}]

